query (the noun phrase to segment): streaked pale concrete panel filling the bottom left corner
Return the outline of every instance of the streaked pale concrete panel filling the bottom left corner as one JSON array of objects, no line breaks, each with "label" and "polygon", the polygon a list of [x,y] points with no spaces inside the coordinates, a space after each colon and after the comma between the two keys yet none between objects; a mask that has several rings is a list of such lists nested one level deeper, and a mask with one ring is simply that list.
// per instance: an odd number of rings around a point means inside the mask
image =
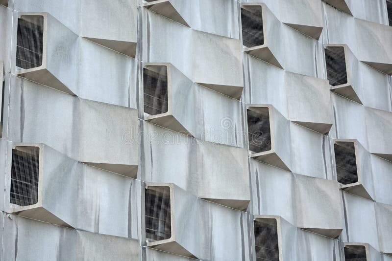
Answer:
[{"label": "streaked pale concrete panel filling the bottom left corner", "polygon": [[5,217],[3,249],[4,260],[39,261],[43,256],[64,261],[139,259],[139,246],[134,239],[78,231],[14,215]]}]

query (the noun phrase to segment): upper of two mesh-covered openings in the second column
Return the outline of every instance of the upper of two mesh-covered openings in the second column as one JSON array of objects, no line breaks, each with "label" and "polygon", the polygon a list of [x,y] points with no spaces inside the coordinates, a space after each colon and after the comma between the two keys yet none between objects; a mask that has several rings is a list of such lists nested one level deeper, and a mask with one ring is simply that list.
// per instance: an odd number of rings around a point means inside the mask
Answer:
[{"label": "upper of two mesh-covered openings in the second column", "polygon": [[168,111],[168,72],[166,66],[143,68],[144,112],[150,115]]}]

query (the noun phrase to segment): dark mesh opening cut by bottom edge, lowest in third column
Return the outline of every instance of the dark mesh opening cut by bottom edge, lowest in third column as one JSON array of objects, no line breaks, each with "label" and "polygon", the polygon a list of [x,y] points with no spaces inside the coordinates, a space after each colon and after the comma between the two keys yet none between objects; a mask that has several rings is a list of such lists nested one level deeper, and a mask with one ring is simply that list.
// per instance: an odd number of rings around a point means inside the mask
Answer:
[{"label": "dark mesh opening cut by bottom edge, lowest in third column", "polygon": [[253,223],[256,261],[279,261],[276,219],[263,218]]}]

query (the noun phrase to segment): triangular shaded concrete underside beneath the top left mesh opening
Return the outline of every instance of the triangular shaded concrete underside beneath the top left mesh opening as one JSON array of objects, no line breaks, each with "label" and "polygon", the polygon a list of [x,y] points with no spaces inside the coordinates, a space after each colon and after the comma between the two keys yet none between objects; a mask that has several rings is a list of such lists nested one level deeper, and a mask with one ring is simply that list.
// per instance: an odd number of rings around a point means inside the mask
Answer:
[{"label": "triangular shaded concrete underside beneath the top left mesh opening", "polygon": [[52,87],[54,89],[66,92],[71,95],[76,95],[73,93],[72,90],[70,90],[67,86],[65,86],[62,82],[60,82],[53,74],[51,74],[48,69],[44,68],[38,70],[31,70],[28,72],[22,72],[16,74],[30,81]]}]

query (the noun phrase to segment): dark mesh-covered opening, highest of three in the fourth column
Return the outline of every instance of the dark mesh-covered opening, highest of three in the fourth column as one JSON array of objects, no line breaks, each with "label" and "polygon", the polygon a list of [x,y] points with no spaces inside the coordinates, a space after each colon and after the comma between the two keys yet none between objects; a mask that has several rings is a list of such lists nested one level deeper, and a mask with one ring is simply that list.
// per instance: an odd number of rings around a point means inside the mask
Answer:
[{"label": "dark mesh-covered opening, highest of three in the fourth column", "polygon": [[343,46],[329,46],[324,49],[327,78],[329,85],[338,86],[347,83],[346,60]]}]

